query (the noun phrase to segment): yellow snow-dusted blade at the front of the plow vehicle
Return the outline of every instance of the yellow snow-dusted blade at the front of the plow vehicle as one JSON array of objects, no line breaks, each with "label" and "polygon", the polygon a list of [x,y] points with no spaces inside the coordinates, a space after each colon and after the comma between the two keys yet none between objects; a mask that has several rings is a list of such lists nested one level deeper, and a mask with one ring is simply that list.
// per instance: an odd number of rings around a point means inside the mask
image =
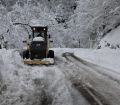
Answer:
[{"label": "yellow snow-dusted blade at the front of the plow vehicle", "polygon": [[39,60],[39,59],[35,59],[35,60],[31,60],[31,59],[24,59],[23,60],[24,64],[28,64],[28,65],[50,65],[50,64],[54,64],[54,60]]}]

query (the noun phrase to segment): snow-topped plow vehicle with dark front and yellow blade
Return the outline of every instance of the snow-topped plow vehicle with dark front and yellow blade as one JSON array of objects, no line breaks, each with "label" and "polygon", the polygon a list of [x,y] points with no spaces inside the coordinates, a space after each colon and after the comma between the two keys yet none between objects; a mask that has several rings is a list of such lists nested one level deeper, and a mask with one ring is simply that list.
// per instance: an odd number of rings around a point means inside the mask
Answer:
[{"label": "snow-topped plow vehicle with dark front and yellow blade", "polygon": [[50,35],[47,34],[48,27],[31,26],[32,35],[23,41],[24,64],[54,64],[54,51],[49,49]]}]

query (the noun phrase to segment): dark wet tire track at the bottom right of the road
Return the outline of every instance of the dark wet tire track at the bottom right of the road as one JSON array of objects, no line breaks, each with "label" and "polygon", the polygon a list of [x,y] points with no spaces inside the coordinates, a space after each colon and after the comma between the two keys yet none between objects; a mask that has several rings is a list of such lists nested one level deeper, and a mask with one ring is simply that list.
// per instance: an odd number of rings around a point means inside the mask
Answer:
[{"label": "dark wet tire track at the bottom right of the road", "polygon": [[73,86],[82,93],[91,105],[110,105],[98,92],[82,82],[73,82]]}]

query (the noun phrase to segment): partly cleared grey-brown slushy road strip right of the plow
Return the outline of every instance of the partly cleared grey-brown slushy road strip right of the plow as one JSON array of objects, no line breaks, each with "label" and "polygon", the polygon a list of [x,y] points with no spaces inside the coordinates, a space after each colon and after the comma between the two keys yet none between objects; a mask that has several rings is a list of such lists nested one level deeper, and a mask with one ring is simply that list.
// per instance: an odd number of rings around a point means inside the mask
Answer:
[{"label": "partly cleared grey-brown slushy road strip right of the plow", "polygon": [[95,104],[91,102],[92,99],[89,100],[89,98],[85,97],[91,105],[119,105],[120,74],[86,62],[70,53],[66,53],[64,56],[69,61],[68,65],[66,65],[66,74],[72,71],[71,76],[69,74],[68,77],[71,80],[73,79],[72,81],[75,84],[77,83],[77,87],[81,86],[81,83],[88,87],[94,95],[93,98],[97,98],[97,104]]}]

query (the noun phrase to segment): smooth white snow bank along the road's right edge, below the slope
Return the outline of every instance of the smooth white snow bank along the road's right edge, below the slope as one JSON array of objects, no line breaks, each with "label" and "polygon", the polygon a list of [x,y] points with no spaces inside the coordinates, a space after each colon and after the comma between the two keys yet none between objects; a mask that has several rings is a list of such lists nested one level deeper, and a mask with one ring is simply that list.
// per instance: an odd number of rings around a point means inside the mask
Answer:
[{"label": "smooth white snow bank along the road's right edge, below the slope", "polygon": [[74,49],[74,55],[88,62],[120,72],[120,50],[119,49]]}]

